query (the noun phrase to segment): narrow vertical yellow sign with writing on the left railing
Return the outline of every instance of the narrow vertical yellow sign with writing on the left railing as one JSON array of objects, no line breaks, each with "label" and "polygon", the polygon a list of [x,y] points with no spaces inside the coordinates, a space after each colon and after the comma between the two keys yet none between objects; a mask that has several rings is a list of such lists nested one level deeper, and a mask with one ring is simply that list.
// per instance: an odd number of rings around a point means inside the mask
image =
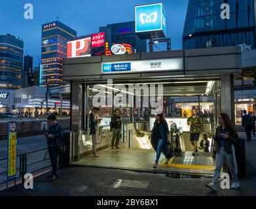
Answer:
[{"label": "narrow vertical yellow sign with writing on the left railing", "polygon": [[9,160],[8,160],[8,177],[16,176],[16,132],[9,133]]}]

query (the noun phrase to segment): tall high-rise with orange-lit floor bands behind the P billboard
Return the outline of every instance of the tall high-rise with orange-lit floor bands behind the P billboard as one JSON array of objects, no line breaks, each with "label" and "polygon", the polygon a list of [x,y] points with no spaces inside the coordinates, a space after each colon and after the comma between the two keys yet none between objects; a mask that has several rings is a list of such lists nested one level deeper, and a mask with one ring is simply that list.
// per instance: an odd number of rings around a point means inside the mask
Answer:
[{"label": "tall high-rise with orange-lit floor bands behind the P billboard", "polygon": [[77,32],[59,21],[42,25],[41,86],[59,86],[62,80],[62,59],[67,57],[67,40]]}]

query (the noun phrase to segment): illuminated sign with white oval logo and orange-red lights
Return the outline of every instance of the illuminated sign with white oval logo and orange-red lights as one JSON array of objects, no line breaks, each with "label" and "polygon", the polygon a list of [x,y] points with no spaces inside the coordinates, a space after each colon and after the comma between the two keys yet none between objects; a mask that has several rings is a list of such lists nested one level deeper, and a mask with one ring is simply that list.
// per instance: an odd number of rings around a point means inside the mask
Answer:
[{"label": "illuminated sign with white oval logo and orange-red lights", "polygon": [[105,55],[134,54],[136,49],[131,44],[105,43]]}]

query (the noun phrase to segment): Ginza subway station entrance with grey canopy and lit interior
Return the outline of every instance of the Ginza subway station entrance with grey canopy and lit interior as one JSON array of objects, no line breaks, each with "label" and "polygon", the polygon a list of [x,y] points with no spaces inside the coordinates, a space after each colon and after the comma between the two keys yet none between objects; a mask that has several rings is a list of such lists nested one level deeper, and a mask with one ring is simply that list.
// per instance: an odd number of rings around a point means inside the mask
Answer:
[{"label": "Ginza subway station entrance with grey canopy and lit interior", "polygon": [[[233,82],[234,76],[241,72],[240,56],[240,48],[228,47],[65,59],[64,78],[71,82],[70,163],[86,167],[212,175],[215,156],[214,140],[210,136],[215,132],[217,116],[221,112],[229,114],[234,121]],[[156,63],[156,69],[143,66],[148,63],[151,67]],[[118,65],[123,66],[117,69]],[[157,70],[157,65],[164,67]],[[92,155],[88,116],[102,97],[104,103],[98,105],[102,119],[97,141],[100,157],[96,158]],[[152,104],[161,108],[174,147],[174,157],[166,164],[162,154],[157,169],[153,168],[156,152],[150,140],[156,110]],[[121,111],[120,150],[111,149],[113,134],[109,123],[115,108]],[[209,152],[199,150],[197,156],[192,156],[190,127],[187,125],[192,108],[197,110],[202,121],[198,146],[203,134],[208,135],[210,142]]]}]

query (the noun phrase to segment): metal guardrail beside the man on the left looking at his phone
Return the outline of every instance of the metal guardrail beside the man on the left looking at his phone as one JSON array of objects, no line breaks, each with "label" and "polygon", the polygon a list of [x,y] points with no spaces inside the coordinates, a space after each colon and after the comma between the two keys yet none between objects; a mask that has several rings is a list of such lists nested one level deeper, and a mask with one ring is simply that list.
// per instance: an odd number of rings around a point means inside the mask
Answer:
[{"label": "metal guardrail beside the man on the left looking at his phone", "polygon": [[[39,161],[34,161],[33,163],[27,163],[28,160],[29,160],[29,155],[32,155],[33,153],[39,153],[39,152],[42,152],[42,151],[46,151],[44,153],[44,155],[42,155],[42,159],[40,159]],[[22,180],[22,184],[24,184],[24,176],[27,172],[33,174],[33,173],[36,173],[36,172],[39,172],[40,170],[44,170],[44,169],[47,169],[48,167],[50,167],[50,162],[48,163],[48,165],[45,165],[43,167],[40,167],[38,169],[31,169],[29,167],[33,167],[33,165],[37,165],[38,163],[43,163],[43,162],[46,162],[48,161],[50,158],[46,158],[46,155],[48,153],[48,148],[43,148],[43,149],[40,149],[40,150],[35,150],[33,152],[27,152],[27,153],[22,153],[22,154],[19,154],[19,155],[16,155],[16,178],[14,180],[14,185],[16,184],[16,180],[20,179]],[[7,164],[8,164],[8,158],[5,157],[5,158],[2,158],[0,159],[0,163],[3,165],[3,161],[6,161],[5,165],[7,167]],[[5,178],[5,181],[2,181],[0,182],[0,188],[1,188],[1,185],[3,184],[6,184],[6,188],[8,188],[8,185],[7,185],[7,180],[6,180],[6,176],[7,176],[7,170],[5,170],[4,172],[0,172],[0,177],[1,178]]]}]

